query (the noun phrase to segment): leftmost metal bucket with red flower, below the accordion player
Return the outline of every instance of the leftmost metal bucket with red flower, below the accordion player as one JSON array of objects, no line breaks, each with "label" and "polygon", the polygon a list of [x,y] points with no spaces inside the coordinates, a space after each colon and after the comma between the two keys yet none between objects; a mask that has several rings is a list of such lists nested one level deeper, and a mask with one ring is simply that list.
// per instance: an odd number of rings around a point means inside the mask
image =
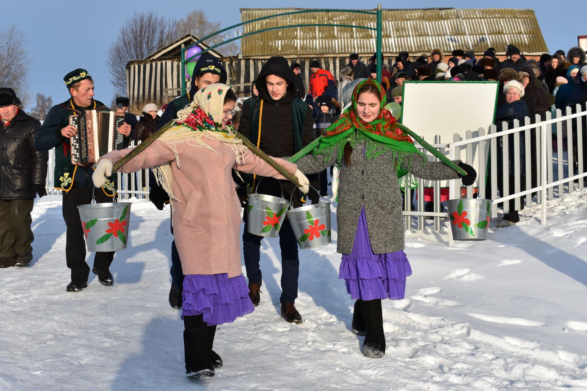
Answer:
[{"label": "leftmost metal bucket with red flower, below the accordion player", "polygon": [[87,251],[118,251],[126,249],[130,229],[130,202],[104,202],[80,205]]}]

